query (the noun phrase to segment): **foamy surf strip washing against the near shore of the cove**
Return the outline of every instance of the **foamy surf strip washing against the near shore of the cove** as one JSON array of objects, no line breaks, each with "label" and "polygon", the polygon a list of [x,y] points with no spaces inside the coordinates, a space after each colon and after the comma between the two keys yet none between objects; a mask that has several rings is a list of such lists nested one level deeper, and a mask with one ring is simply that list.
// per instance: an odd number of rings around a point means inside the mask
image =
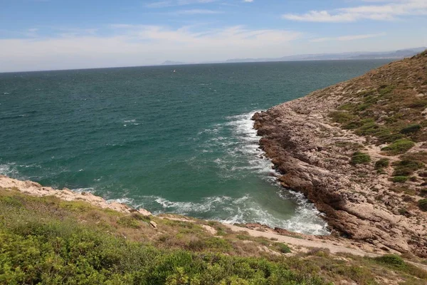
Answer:
[{"label": "foamy surf strip washing against the near shore of the cove", "polygon": [[[300,193],[296,195],[300,195]],[[194,202],[172,201],[155,195],[142,196],[137,199],[125,197],[108,201],[122,202],[135,208],[148,209],[153,214],[169,212],[228,224],[258,222],[269,227],[280,227],[302,234],[330,234],[322,219],[315,216],[316,210],[309,203],[298,207],[290,219],[281,219],[271,214],[251,195],[243,195],[242,197],[212,196]]]}]

